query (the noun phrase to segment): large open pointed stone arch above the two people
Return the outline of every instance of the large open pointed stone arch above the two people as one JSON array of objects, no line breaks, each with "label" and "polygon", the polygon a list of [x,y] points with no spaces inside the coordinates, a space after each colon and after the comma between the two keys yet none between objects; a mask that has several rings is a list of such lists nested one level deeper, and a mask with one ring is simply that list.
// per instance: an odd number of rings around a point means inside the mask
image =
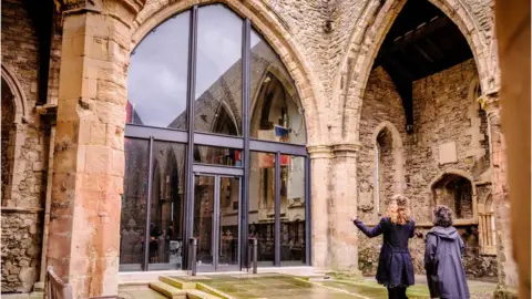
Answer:
[{"label": "large open pointed stone arch above the two people", "polygon": [[[459,1],[427,0],[439,8],[451,19],[468,41],[478,68],[483,91],[493,90],[495,80],[490,76],[492,51],[482,33],[481,25],[472,13]],[[396,17],[400,13],[406,0],[371,1],[367,4],[359,22],[349,39],[345,58],[340,62],[334,80],[334,94],[340,116],[338,127],[339,142],[357,142],[364,92],[375,58]],[[490,55],[491,54],[491,55]]]}]

